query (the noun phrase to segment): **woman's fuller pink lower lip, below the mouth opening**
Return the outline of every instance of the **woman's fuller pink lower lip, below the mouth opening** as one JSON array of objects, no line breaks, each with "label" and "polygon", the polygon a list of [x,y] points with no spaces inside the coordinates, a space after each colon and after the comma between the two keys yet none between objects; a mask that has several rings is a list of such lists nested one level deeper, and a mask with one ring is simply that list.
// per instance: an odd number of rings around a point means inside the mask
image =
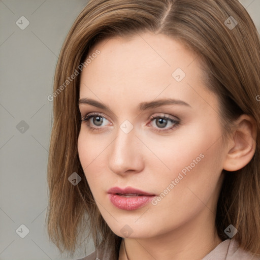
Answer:
[{"label": "woman's fuller pink lower lip, below the mouth opening", "polygon": [[114,206],[123,210],[135,210],[149,203],[155,196],[122,197],[118,194],[109,194],[109,199]]}]

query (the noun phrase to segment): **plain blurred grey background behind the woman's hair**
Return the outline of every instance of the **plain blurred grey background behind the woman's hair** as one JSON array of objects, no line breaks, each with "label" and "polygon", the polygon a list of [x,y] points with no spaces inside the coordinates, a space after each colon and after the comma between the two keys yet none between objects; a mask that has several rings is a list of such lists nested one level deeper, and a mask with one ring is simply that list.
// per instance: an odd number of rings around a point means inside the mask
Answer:
[{"label": "plain blurred grey background behind the woman's hair", "polygon": [[[240,2],[260,32],[260,0]],[[47,96],[61,45],[86,3],[0,1],[0,260],[66,259],[49,242],[45,226],[52,124]],[[21,16],[29,21],[23,30],[16,24]],[[18,236],[21,224],[29,230],[24,238]],[[92,241],[84,246],[87,253],[94,249]],[[83,256],[77,251],[74,258]]]}]

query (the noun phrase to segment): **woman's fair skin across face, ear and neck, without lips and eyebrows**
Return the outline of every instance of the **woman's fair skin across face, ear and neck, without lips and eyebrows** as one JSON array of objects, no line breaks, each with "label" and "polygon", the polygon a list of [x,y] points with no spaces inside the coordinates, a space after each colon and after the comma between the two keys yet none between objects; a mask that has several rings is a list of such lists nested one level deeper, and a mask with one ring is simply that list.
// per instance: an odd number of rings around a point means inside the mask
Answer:
[{"label": "woman's fair skin across face, ear and neck, without lips and eyebrows", "polygon": [[[202,259],[222,241],[215,228],[222,170],[244,167],[255,151],[253,120],[243,115],[228,142],[221,138],[219,103],[202,77],[197,55],[166,35],[150,32],[133,38],[112,38],[95,45],[101,54],[83,69],[80,99],[102,102],[111,111],[80,104],[81,116],[101,113],[103,123],[91,118],[91,131],[82,122],[78,152],[96,204],[118,236],[124,238],[129,259]],[[186,76],[177,82],[172,73]],[[142,102],[172,98],[183,105],[139,111]],[[179,119],[161,126],[150,116]],[[120,125],[134,126],[125,134]],[[239,131],[239,132],[238,132]],[[132,186],[159,196],[172,180],[200,154],[204,158],[187,172],[157,205],[137,210],[116,208],[107,191]],[[232,174],[232,173],[230,173]],[[128,225],[127,237],[121,229]],[[125,228],[124,228],[125,229]],[[129,229],[129,228],[127,228]],[[119,259],[127,259],[121,243]]]}]

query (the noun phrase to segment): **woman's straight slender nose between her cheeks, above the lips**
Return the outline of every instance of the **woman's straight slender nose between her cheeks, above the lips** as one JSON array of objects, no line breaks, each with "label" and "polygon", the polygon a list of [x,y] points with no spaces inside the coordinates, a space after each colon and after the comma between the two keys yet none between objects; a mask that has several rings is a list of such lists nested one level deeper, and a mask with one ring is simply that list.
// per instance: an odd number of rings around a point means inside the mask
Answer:
[{"label": "woman's straight slender nose between her cheeks, above the lips", "polygon": [[129,122],[123,122],[119,126],[117,137],[111,146],[109,167],[115,173],[139,170],[141,167],[142,156],[140,149],[137,149],[139,139],[136,137],[135,128],[131,125]]}]

